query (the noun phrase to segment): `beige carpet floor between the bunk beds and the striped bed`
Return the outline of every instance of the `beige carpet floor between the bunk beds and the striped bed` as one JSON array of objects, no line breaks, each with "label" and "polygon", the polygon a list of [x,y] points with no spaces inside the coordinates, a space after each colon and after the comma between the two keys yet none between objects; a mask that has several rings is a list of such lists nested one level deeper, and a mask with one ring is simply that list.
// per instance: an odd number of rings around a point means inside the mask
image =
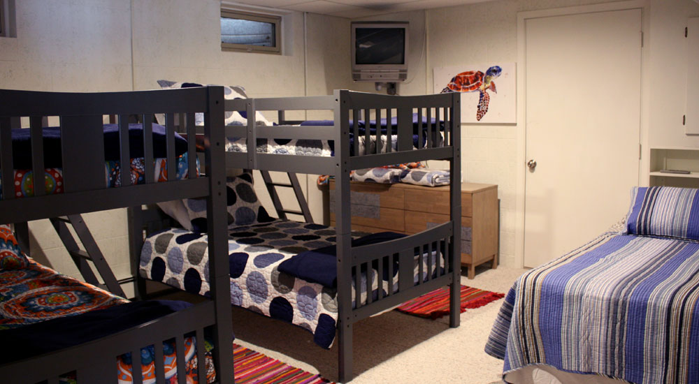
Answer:
[{"label": "beige carpet floor between the bunk beds and the striped bed", "polygon": [[[507,293],[524,270],[480,268],[461,283]],[[356,323],[352,383],[501,383],[502,360],[483,348],[502,302],[461,313],[458,328],[449,328],[448,316],[428,320],[398,311]],[[234,308],[233,330],[242,346],[337,380],[337,346],[320,348],[300,327]]]}]

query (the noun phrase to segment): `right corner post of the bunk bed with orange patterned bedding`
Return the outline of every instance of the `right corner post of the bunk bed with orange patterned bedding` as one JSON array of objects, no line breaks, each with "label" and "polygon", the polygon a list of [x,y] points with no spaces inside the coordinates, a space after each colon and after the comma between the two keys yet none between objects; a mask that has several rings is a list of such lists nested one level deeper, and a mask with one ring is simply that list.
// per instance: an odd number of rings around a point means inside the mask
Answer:
[{"label": "right corner post of the bunk bed with orange patterned bedding", "polygon": [[[206,198],[206,217],[209,229],[209,281],[211,297],[216,309],[214,329],[216,348],[213,350],[219,383],[230,384],[233,377],[233,325],[231,290],[228,266],[228,234],[226,228],[226,154],[224,149],[224,101],[222,87],[208,88],[208,113],[204,114],[206,172],[210,194]],[[254,112],[253,115],[254,116]]]}]

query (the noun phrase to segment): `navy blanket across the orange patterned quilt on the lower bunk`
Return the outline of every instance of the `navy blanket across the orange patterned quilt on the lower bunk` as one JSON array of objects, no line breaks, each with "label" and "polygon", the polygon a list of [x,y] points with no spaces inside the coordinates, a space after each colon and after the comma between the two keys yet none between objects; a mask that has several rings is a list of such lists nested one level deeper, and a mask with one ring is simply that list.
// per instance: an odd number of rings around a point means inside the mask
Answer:
[{"label": "navy blanket across the orange patterned quilt on the lower bunk", "polygon": [[77,346],[115,334],[150,320],[180,311],[192,304],[171,300],[148,300],[54,318],[41,323],[0,331],[0,361],[13,362]]}]

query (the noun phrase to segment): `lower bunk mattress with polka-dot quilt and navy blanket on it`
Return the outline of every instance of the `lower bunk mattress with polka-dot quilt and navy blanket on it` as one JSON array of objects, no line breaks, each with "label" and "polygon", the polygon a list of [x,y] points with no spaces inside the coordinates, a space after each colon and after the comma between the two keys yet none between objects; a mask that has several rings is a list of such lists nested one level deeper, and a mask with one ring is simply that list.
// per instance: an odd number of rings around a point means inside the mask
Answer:
[{"label": "lower bunk mattress with polka-dot quilt and navy blanket on it", "polygon": [[[391,232],[361,235],[367,234],[352,233],[354,246],[403,236]],[[337,288],[333,284],[336,258],[318,256],[319,253],[331,253],[329,249],[334,250],[335,236],[334,228],[288,220],[230,229],[231,304],[303,327],[313,334],[316,344],[330,348],[338,320]],[[190,293],[208,295],[207,239],[206,233],[181,228],[150,235],[143,244],[140,275]],[[419,258],[415,258],[416,283],[420,271],[423,280],[426,280],[428,270],[433,271],[433,275],[437,274],[434,267],[436,255],[434,251],[431,257],[424,257],[422,268],[417,261]],[[431,264],[431,267],[427,264]],[[440,265],[445,264],[440,261]],[[383,270],[382,290],[387,293],[388,268]],[[397,273],[398,267],[394,267],[394,276]],[[376,269],[372,269],[369,276],[372,295],[376,297],[379,287]],[[366,271],[361,271],[360,303],[366,301],[366,278]],[[353,278],[353,287],[354,282]],[[392,292],[397,291],[397,283],[392,289]],[[352,289],[352,307],[354,291]]]}]

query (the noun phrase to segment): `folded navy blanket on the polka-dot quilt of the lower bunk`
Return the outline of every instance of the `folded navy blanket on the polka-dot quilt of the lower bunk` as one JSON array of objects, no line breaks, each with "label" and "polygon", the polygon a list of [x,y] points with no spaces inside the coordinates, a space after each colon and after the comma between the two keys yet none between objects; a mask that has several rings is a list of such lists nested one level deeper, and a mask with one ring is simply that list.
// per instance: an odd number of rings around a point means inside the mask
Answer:
[{"label": "folded navy blanket on the polka-dot quilt of the lower bunk", "polygon": [[[372,233],[352,240],[352,246],[362,246],[368,244],[376,244],[387,242],[389,240],[400,239],[405,237],[401,233],[396,232],[379,232]],[[311,251],[298,253],[287,260],[282,261],[279,265],[279,271],[296,276],[310,283],[319,283],[327,288],[337,288],[338,286],[338,271],[337,271],[337,248],[334,245],[326,246]],[[377,265],[373,265],[374,268]],[[388,280],[388,260],[384,260],[384,280]],[[365,271],[361,271],[365,272]],[[398,273],[398,262],[394,260],[394,276]]]}]

